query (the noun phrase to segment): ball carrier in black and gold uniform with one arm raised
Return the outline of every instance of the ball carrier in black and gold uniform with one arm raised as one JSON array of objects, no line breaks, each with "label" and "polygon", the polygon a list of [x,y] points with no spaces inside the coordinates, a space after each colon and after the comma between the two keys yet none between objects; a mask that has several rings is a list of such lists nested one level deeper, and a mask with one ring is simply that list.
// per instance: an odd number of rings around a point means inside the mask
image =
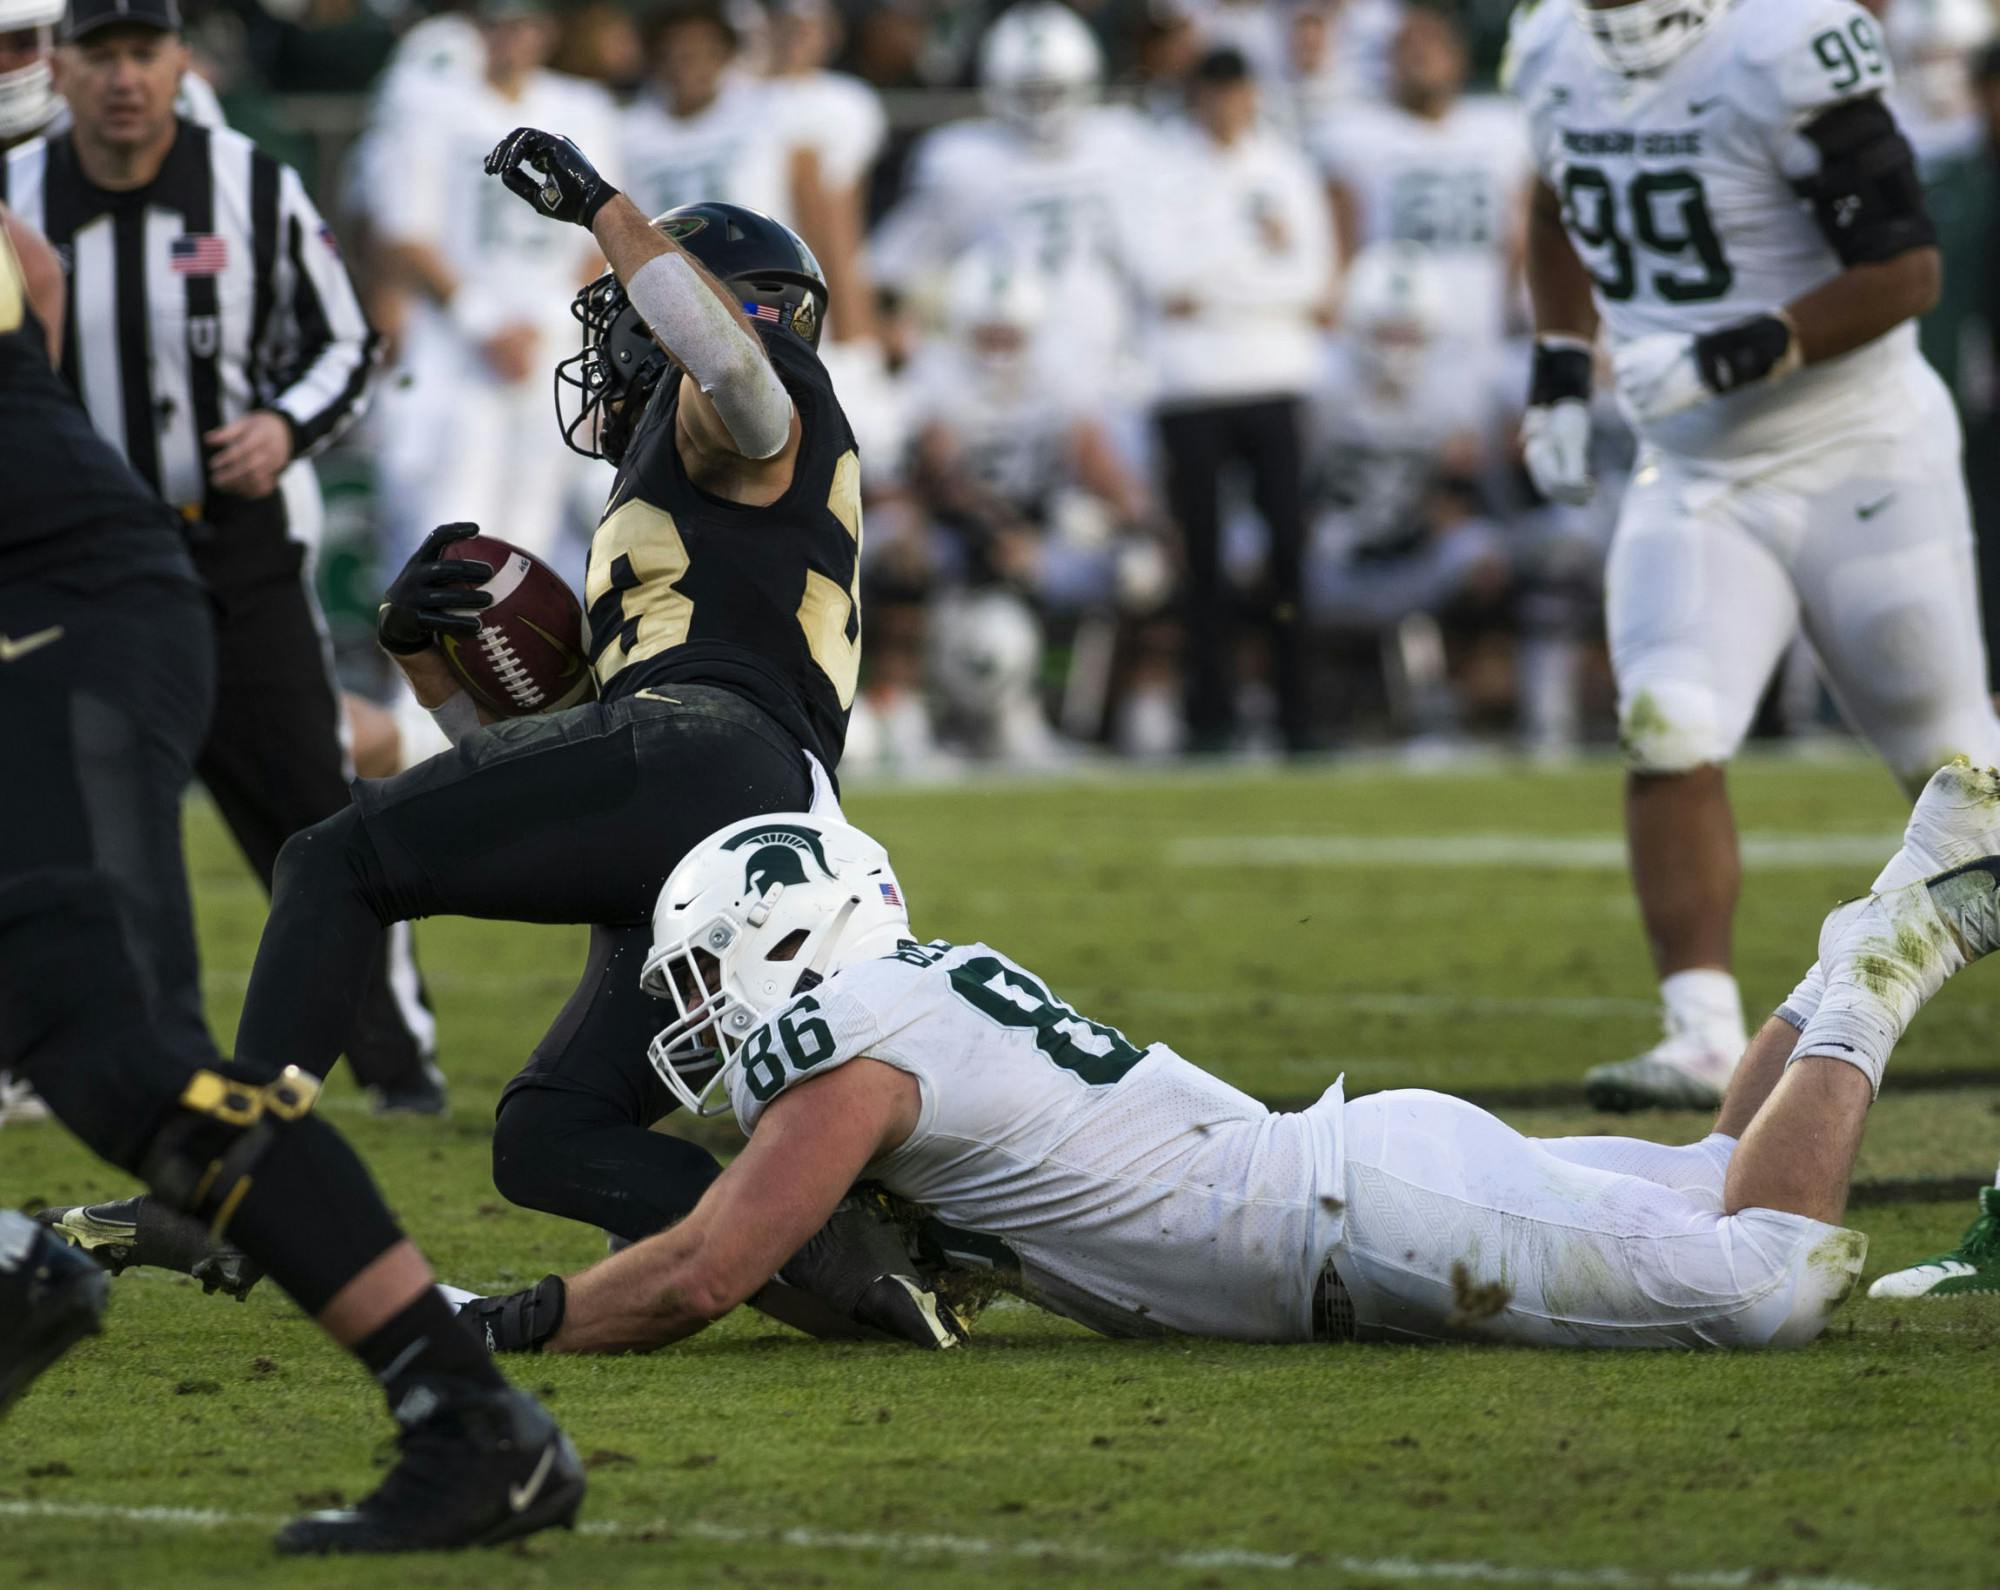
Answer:
[{"label": "ball carrier in black and gold uniform with one arm raised", "polygon": [[[434,532],[390,586],[380,640],[454,746],[358,782],[350,810],[286,844],[236,1052],[324,1074],[388,922],[590,924],[582,982],[502,1094],[494,1184],[638,1240],[720,1172],[648,1130],[674,1108],[646,1058],[652,908],[716,828],[834,802],[860,670],[860,466],[816,354],[826,284],[786,226],[730,204],[648,222],[574,144],[532,128],[488,172],[588,226],[612,264],[578,294],[584,352],[566,372],[584,402],[564,426],[618,464],[586,578],[600,696],[484,724],[434,642],[478,626],[486,598],[466,586],[490,570],[438,560],[470,526]],[[756,1304],[820,1332],[860,1322],[944,1346],[908,1268],[854,1204]],[[558,1298],[486,1310],[490,1340],[540,1340]]]}]

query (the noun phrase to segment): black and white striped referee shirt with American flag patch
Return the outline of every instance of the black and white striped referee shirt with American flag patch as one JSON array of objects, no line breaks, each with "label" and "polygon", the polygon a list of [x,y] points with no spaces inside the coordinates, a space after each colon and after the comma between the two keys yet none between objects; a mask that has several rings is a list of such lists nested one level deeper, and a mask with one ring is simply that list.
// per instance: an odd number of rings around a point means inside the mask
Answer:
[{"label": "black and white striped referee shirt with American flag patch", "polygon": [[204,512],[216,426],[268,408],[306,456],[366,404],[376,336],[332,232],[240,132],[180,122],[128,192],[92,184],[68,136],[36,138],[0,166],[0,200],[68,264],[70,384],[176,508]]}]

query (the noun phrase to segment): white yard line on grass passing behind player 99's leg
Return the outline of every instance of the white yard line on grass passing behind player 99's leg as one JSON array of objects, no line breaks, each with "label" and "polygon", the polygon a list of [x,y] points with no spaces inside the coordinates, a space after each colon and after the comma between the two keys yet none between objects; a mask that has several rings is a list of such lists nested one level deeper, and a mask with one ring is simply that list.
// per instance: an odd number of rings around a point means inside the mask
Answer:
[{"label": "white yard line on grass passing behind player 99's leg", "polygon": [[[1746,866],[1800,870],[1880,866],[1898,834],[1742,836]],[[1172,866],[1500,866],[1542,872],[1624,872],[1618,834],[1202,834],[1168,844]],[[1856,888],[1862,888],[1862,878]]]}]

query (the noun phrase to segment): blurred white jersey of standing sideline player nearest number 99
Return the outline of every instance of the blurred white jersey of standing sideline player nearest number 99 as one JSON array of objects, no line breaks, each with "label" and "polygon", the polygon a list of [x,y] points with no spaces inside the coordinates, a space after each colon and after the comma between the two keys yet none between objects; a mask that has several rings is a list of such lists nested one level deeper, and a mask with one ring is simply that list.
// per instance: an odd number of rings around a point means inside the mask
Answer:
[{"label": "blurred white jersey of standing sideline player nearest number 99", "polygon": [[1520,106],[1466,98],[1428,120],[1394,104],[1356,104],[1318,128],[1314,152],[1354,194],[1354,246],[1424,244],[1444,278],[1456,330],[1498,340],[1508,248],[1534,172]]}]

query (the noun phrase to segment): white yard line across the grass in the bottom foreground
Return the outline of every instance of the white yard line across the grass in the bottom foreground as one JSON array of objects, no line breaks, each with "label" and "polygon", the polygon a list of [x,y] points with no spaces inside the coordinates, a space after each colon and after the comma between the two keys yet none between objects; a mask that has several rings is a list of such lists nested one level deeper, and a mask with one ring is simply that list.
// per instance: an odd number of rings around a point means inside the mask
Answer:
[{"label": "white yard line across the grass in the bottom foreground", "polygon": [[[220,1512],[214,1508],[120,1508],[100,1502],[8,1502],[0,1500],[0,1518],[68,1518],[98,1524],[158,1524],[162,1528],[276,1528],[282,1520],[270,1514]],[[1548,1584],[1560,1590],[1736,1590],[1770,1586],[1770,1590],[1880,1590],[1880,1586],[1850,1578],[1780,1576],[1760,1578],[1762,1570],[1728,1568],[1720,1572],[1648,1574],[1630,1568],[1510,1568],[1500,1562],[1422,1562],[1416,1558],[1382,1556],[1318,1556],[1314,1552],[1248,1552],[1228,1546],[1186,1552],[1120,1552],[1112,1546],[1068,1540],[988,1540],[966,1534],[894,1534],[876,1530],[812,1530],[812,1528],[746,1528],[740,1524],[706,1524],[702,1520],[654,1520],[650,1524],[586,1522],[578,1534],[608,1538],[672,1538],[706,1540],[720,1546],[792,1546],[802,1552],[856,1552],[882,1556],[950,1556],[962,1560],[1026,1560],[1074,1566],[1132,1566],[1174,1570],[1234,1568],[1244,1572],[1310,1574],[1314,1580],[1450,1580],[1454,1584]],[[18,1544],[16,1544],[18,1548]]]}]

